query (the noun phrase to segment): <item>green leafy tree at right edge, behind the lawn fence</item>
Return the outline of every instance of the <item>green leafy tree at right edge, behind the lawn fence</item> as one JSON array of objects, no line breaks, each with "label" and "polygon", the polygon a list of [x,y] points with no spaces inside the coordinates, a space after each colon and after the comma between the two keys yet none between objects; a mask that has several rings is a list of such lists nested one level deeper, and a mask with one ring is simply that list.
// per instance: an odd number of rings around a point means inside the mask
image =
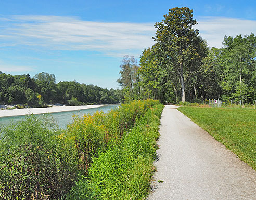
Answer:
[{"label": "green leafy tree at right edge, behind the lawn fence", "polygon": [[256,72],[256,37],[224,37],[222,51],[225,60],[223,90],[230,99],[248,101],[253,97],[253,77]]}]

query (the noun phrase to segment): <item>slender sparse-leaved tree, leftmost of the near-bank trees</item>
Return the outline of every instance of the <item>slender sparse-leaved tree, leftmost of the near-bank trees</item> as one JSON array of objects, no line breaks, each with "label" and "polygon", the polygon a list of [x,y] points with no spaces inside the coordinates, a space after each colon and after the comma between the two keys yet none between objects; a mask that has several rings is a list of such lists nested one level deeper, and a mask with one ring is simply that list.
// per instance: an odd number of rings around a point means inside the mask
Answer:
[{"label": "slender sparse-leaved tree, leftmost of the near-bank trees", "polygon": [[127,88],[129,96],[134,99],[134,84],[138,82],[138,65],[134,56],[125,55],[120,65],[121,77],[118,79],[118,83]]}]

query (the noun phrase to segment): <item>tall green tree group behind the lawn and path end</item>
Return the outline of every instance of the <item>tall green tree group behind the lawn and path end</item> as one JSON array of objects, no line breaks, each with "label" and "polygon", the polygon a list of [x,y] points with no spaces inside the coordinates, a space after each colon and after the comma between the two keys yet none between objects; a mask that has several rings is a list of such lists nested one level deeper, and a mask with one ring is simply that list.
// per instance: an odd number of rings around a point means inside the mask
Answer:
[{"label": "tall green tree group behind the lawn and path end", "polygon": [[172,8],[155,24],[155,44],[139,64],[125,56],[120,65],[126,99],[202,102],[256,99],[256,36],[225,36],[223,48],[209,48],[193,26],[193,10]]}]

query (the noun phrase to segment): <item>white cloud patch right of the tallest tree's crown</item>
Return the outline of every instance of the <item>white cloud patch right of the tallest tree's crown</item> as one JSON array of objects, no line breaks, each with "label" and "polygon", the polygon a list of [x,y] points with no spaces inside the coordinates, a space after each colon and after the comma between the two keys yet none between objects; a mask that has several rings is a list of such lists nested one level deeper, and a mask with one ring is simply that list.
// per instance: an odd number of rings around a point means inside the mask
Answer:
[{"label": "white cloud patch right of the tallest tree's crown", "polygon": [[222,47],[225,35],[250,35],[256,33],[256,21],[225,17],[201,17],[195,26],[210,47]]}]

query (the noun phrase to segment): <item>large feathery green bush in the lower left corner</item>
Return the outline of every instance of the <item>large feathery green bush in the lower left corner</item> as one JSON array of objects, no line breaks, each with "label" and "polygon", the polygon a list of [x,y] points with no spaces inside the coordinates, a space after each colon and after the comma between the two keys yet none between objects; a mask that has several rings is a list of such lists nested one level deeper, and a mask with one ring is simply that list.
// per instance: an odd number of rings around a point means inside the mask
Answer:
[{"label": "large feathery green bush in the lower left corner", "polygon": [[1,129],[2,199],[58,199],[68,191],[75,167],[59,131],[33,115]]}]

